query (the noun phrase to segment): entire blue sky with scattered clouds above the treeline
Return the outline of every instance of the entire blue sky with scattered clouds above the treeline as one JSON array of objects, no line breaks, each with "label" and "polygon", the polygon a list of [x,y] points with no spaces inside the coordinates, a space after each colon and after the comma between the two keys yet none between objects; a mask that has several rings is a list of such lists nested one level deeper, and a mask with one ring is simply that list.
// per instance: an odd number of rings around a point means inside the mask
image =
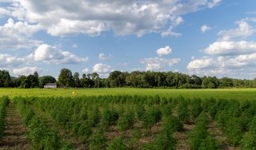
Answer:
[{"label": "entire blue sky with scattered clouds above the treeline", "polygon": [[0,0],[0,69],[256,77],[255,0]]}]

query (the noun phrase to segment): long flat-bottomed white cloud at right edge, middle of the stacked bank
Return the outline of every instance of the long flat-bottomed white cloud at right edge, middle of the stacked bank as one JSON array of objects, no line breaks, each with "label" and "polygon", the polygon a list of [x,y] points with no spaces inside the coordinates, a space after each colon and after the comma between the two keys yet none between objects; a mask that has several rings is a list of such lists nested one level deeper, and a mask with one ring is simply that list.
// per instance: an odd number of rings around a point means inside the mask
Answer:
[{"label": "long flat-bottomed white cloud at right edge, middle of the stacked bank", "polygon": [[238,55],[256,52],[254,41],[216,41],[206,48],[210,55]]}]

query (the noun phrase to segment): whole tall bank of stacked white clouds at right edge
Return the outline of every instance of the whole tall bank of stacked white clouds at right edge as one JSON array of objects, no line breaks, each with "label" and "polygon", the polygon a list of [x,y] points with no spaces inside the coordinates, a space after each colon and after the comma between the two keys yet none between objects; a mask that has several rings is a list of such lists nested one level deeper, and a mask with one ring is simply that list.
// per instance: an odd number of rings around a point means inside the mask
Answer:
[{"label": "whole tall bank of stacked white clouds at right edge", "polygon": [[256,42],[246,41],[256,32],[250,22],[254,18],[244,18],[236,24],[238,28],[221,30],[218,40],[204,50],[206,57],[193,58],[187,65],[190,73],[211,76],[247,77],[256,73]]}]

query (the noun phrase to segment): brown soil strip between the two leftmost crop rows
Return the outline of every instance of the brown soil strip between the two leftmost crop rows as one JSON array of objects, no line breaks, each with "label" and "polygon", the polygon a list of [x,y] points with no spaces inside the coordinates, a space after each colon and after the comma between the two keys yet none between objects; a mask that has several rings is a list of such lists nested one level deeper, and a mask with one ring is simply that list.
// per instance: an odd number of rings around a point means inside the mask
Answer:
[{"label": "brown soil strip between the two leftmost crop rows", "polygon": [[10,103],[6,110],[6,129],[0,149],[31,149],[30,142],[26,140],[26,130],[22,125],[22,116]]}]

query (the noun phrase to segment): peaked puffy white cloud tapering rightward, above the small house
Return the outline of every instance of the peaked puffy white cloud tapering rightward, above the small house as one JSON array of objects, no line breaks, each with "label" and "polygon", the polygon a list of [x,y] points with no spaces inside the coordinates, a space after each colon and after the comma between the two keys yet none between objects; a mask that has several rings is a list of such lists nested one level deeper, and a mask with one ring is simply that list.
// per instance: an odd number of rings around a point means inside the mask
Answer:
[{"label": "peaked puffy white cloud tapering rightward, above the small house", "polygon": [[47,64],[78,64],[88,61],[88,57],[77,57],[73,53],[63,51],[55,46],[42,44],[27,58]]}]

